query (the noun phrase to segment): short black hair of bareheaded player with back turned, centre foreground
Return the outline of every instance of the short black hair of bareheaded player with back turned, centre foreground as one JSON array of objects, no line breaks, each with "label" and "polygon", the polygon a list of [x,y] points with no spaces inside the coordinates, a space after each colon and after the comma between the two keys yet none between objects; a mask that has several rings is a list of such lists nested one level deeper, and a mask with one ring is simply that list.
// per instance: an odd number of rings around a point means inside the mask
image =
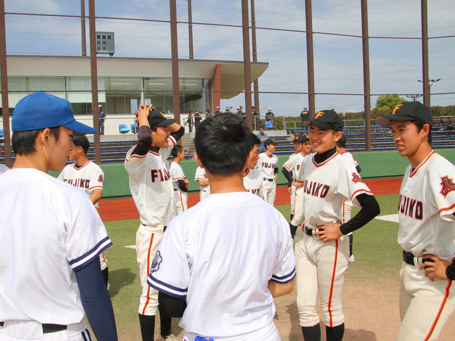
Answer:
[{"label": "short black hair of bareheaded player with back turned, centre foreground", "polygon": [[216,114],[203,120],[194,136],[196,153],[211,174],[243,172],[252,145],[251,130],[243,117]]}]

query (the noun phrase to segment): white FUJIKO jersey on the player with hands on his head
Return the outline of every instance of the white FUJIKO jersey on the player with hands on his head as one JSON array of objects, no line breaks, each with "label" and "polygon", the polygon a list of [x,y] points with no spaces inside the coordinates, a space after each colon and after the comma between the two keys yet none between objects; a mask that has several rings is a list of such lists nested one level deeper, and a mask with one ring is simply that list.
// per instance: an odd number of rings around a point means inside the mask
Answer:
[{"label": "white FUJIKO jersey on the player with hands on his head", "polygon": [[167,226],[176,215],[174,186],[166,161],[175,144],[169,136],[169,145],[158,153],[149,150],[146,155],[134,155],[136,146],[126,153],[131,195],[144,225]]}]

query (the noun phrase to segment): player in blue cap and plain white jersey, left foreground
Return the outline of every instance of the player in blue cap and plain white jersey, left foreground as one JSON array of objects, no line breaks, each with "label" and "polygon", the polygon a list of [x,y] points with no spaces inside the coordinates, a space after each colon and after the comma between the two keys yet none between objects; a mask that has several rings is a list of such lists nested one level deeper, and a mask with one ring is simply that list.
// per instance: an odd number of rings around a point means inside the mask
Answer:
[{"label": "player in blue cap and plain white jersey, left foreground", "polygon": [[0,176],[0,340],[117,340],[99,255],[112,245],[93,203],[47,174],[65,167],[76,122],[68,100],[38,91],[12,118],[14,167]]}]

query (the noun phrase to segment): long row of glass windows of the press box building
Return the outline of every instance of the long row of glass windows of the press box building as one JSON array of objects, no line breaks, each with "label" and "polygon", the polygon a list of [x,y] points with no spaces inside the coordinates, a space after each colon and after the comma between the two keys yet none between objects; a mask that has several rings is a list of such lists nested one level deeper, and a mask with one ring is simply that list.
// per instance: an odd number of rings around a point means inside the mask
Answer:
[{"label": "long row of glass windows of the press box building", "polygon": [[[182,78],[179,83],[182,113],[211,107],[211,79]],[[10,112],[21,98],[44,90],[69,100],[74,115],[92,114],[90,77],[8,77],[8,88]],[[98,90],[107,115],[134,114],[142,100],[157,111],[173,111],[172,78],[98,77]]]}]

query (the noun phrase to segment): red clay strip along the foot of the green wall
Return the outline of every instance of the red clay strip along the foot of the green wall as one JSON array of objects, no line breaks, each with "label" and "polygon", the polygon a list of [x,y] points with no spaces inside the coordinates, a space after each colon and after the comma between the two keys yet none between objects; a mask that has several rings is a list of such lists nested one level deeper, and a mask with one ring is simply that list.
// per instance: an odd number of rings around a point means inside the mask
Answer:
[{"label": "red clay strip along the foot of the green wall", "polygon": [[[365,184],[373,192],[375,196],[383,196],[386,194],[397,194],[401,186],[403,178],[365,180]],[[199,193],[188,194],[188,208],[196,205],[199,202]],[[278,187],[277,196],[275,198],[275,206],[289,205],[291,203],[290,195],[287,187]],[[98,213],[102,221],[117,221],[125,219],[138,219],[139,212],[132,198],[114,199],[100,201]]]}]

